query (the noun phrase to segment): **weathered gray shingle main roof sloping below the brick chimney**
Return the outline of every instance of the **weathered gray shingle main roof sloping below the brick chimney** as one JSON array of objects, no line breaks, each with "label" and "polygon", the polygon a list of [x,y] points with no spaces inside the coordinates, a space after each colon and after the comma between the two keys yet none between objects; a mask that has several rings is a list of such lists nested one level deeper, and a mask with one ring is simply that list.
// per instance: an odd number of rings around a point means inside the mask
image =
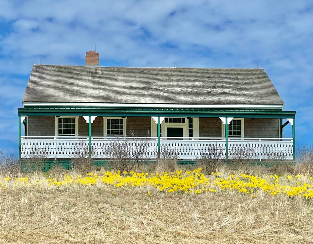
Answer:
[{"label": "weathered gray shingle main roof sloping below the brick chimney", "polygon": [[284,104],[263,69],[33,65],[23,102]]}]

